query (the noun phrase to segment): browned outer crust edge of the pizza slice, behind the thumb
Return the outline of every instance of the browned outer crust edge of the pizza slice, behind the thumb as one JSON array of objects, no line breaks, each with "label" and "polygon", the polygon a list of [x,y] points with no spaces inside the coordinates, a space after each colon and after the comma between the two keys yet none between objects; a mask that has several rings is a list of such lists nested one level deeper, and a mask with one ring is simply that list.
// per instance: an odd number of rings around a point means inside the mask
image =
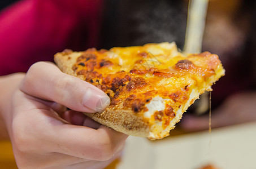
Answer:
[{"label": "browned outer crust edge of the pizza slice, behind the thumb", "polygon": [[[76,63],[76,59],[80,55],[81,52],[63,51],[54,55],[54,61],[63,73],[67,73],[84,80],[83,75],[76,75],[72,70],[72,65]],[[142,117],[134,114],[132,110],[119,109],[118,107],[119,106],[115,109],[107,108],[102,113],[83,113],[94,121],[118,132],[138,137],[149,136],[150,127],[143,121]]]}]

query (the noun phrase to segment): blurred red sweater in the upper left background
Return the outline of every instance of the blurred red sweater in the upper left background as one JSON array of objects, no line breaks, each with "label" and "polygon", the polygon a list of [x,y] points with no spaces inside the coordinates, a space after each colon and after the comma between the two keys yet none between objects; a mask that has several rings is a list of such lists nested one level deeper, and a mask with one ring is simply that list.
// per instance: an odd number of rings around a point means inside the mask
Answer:
[{"label": "blurred red sweater in the upper left background", "polygon": [[27,72],[65,48],[96,47],[103,0],[24,0],[0,13],[0,75]]}]

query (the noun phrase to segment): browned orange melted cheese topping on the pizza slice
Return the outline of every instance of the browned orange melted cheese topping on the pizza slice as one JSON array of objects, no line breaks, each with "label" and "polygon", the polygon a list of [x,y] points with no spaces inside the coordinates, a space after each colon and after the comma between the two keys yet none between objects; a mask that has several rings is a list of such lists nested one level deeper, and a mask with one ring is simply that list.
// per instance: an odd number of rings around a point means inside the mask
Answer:
[{"label": "browned orange melted cheese topping on the pizza slice", "polygon": [[154,113],[154,119],[165,127],[176,115],[173,110],[189,99],[190,87],[215,75],[220,65],[218,56],[210,52],[177,55],[170,60],[167,57],[168,54],[151,54],[138,47],[131,47],[129,54],[122,52],[122,48],[110,51],[90,48],[77,58],[72,69],[109,95],[113,109],[123,106],[142,115],[153,97],[171,99],[164,111]]}]

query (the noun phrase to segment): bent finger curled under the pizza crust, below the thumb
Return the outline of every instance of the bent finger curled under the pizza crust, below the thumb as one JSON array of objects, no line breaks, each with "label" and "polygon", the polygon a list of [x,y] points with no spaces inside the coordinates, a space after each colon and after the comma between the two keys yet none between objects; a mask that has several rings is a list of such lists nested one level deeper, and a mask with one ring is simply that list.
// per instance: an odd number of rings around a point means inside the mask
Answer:
[{"label": "bent finger curled under the pizza crust, below the thumb", "polygon": [[54,140],[51,144],[52,149],[58,153],[106,161],[118,151],[128,136],[105,126],[95,130],[84,126],[64,124],[55,127],[53,135],[49,137]]}]

